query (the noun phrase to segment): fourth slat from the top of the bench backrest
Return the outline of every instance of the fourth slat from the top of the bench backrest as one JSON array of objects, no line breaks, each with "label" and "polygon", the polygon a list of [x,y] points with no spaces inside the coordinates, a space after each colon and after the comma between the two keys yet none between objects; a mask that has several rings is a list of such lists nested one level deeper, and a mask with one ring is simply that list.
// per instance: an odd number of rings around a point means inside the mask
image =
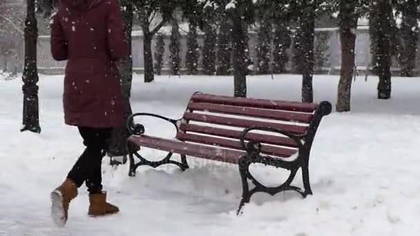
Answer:
[{"label": "fourth slat from the top of the bench backrest", "polygon": [[[195,124],[181,124],[180,130],[184,132],[198,132],[206,135],[215,135],[220,137],[227,137],[231,139],[239,139],[241,131],[229,130],[225,128],[215,128],[209,126],[198,126]],[[245,136],[245,140],[258,141],[263,144],[274,144],[278,146],[287,146],[297,148],[298,144],[289,137],[280,137],[275,135],[265,135],[249,132]]]}]

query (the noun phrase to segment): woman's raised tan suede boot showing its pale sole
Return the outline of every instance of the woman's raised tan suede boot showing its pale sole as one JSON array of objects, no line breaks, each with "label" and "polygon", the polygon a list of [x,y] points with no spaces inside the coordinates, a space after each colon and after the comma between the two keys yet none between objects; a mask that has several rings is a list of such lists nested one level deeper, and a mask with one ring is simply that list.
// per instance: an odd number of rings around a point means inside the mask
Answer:
[{"label": "woman's raised tan suede boot showing its pale sole", "polygon": [[77,197],[77,186],[71,179],[66,179],[63,184],[51,193],[51,216],[56,224],[64,226],[68,219],[68,206],[70,201]]}]

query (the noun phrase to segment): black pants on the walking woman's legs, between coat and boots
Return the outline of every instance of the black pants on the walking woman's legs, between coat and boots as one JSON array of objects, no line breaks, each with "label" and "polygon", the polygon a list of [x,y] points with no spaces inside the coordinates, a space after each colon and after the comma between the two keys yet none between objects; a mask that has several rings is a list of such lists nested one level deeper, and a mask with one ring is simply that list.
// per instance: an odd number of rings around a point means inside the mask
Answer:
[{"label": "black pants on the walking woman's legs, between coat and boots", "polygon": [[75,166],[68,173],[77,187],[86,183],[89,193],[102,191],[102,158],[108,150],[108,139],[111,139],[112,128],[78,127],[86,146]]}]

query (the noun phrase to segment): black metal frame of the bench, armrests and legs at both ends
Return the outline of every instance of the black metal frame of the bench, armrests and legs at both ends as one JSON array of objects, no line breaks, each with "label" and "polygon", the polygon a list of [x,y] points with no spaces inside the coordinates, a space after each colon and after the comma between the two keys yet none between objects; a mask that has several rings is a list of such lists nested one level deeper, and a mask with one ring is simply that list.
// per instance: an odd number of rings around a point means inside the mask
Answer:
[{"label": "black metal frame of the bench, armrests and legs at both ends", "polygon": [[[237,214],[240,214],[240,210],[242,206],[248,203],[251,199],[251,196],[254,193],[268,193],[269,195],[273,196],[277,193],[286,191],[286,190],[294,190],[297,193],[300,193],[303,198],[307,197],[307,195],[312,195],[312,189],[309,182],[309,155],[312,148],[312,144],[314,141],[314,137],[316,135],[316,130],[318,130],[318,126],[321,123],[321,119],[325,115],[329,115],[332,111],[332,105],[328,101],[321,101],[318,104],[318,108],[316,108],[314,112],[314,116],[312,121],[309,123],[308,130],[305,135],[293,135],[288,132],[283,132],[282,130],[278,130],[276,128],[267,128],[267,127],[252,127],[252,128],[245,128],[241,135],[240,135],[240,143],[243,150],[246,151],[244,155],[239,158],[238,167],[239,173],[242,181],[242,199],[240,200],[240,204],[237,210]],[[155,117],[158,119],[162,119],[164,121],[169,121],[173,126],[175,126],[176,131],[179,132],[180,124],[182,124],[183,119],[170,119],[167,117],[163,117],[161,115],[156,115],[152,113],[135,113],[128,117],[126,121],[126,126],[128,131],[131,135],[143,135],[145,132],[144,126],[142,124],[135,124],[134,117],[139,116],[148,116],[148,117]],[[292,161],[287,161],[284,159],[280,159],[277,157],[270,157],[269,155],[263,155],[261,153],[261,144],[256,141],[248,141],[246,143],[245,136],[248,132],[253,130],[262,130],[267,132],[276,132],[280,135],[284,135],[296,141],[298,145],[298,155],[296,159]],[[149,161],[146,158],[142,157],[140,153],[135,150],[134,144],[131,144],[130,141],[127,142],[127,148],[129,151],[129,161],[130,161],[130,170],[129,176],[135,176],[135,170],[139,166],[151,166],[153,168],[157,168],[158,166],[162,166],[164,164],[174,164],[178,166],[181,170],[187,170],[189,168],[187,164],[187,157],[186,155],[180,155],[181,162],[174,161],[171,159],[173,157],[173,153],[169,152],[166,157],[161,159],[160,161]],[[140,159],[137,164],[135,164],[134,157]],[[251,175],[249,171],[249,166],[251,164],[265,164],[269,166],[275,166],[276,168],[284,168],[290,171],[289,177],[287,177],[286,181],[283,184],[280,184],[276,187],[267,187],[261,184],[253,175]],[[303,189],[297,186],[292,185],[292,181],[296,176],[299,168],[302,170],[302,177],[303,177]],[[249,188],[249,181],[254,184],[254,188]]]}]

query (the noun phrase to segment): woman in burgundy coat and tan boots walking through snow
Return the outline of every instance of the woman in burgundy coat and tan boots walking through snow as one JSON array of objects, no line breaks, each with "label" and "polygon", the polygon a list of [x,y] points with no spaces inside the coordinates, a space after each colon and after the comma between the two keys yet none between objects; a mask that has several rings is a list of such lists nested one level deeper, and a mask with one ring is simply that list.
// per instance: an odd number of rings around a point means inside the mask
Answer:
[{"label": "woman in burgundy coat and tan boots walking through snow", "polygon": [[117,64],[128,56],[117,0],[61,0],[51,19],[51,52],[67,60],[64,78],[64,119],[77,126],[86,149],[66,180],[53,190],[52,214],[64,225],[70,201],[85,182],[91,216],[117,213],[102,191],[101,164],[113,127],[124,123]]}]

